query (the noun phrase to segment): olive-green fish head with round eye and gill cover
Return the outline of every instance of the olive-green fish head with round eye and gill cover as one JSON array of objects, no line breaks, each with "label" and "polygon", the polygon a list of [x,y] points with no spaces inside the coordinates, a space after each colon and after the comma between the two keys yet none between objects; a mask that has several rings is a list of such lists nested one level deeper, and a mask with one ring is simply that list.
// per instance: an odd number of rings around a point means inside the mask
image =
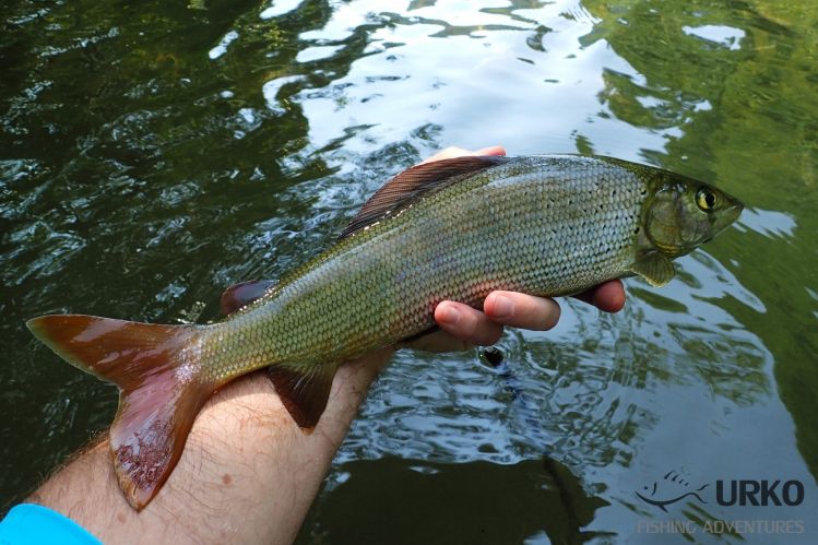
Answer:
[{"label": "olive-green fish head with round eye and gill cover", "polygon": [[711,240],[735,222],[744,204],[708,183],[678,175],[653,186],[643,213],[647,246],[675,258]]}]

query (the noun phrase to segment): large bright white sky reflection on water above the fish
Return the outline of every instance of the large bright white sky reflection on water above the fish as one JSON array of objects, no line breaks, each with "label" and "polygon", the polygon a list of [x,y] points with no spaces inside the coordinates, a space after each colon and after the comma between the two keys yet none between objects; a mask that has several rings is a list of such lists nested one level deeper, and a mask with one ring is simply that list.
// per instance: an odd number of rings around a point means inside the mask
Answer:
[{"label": "large bright white sky reflection on water above the fish", "polygon": [[343,4],[323,28],[300,36],[327,47],[358,25],[381,23],[368,36],[366,50],[376,55],[357,59],[328,86],[293,97],[310,120],[315,149],[342,138],[346,127],[368,127],[345,143],[364,151],[435,126],[440,142],[478,147],[488,139],[512,154],[576,151],[578,139],[593,134],[595,152],[636,159],[640,150],[662,149],[680,135],[676,128],[633,127],[601,104],[603,67],[643,79],[604,40],[580,43],[594,20],[580,16],[576,2],[510,10],[513,20],[449,3],[405,13],[382,9],[375,1]]}]

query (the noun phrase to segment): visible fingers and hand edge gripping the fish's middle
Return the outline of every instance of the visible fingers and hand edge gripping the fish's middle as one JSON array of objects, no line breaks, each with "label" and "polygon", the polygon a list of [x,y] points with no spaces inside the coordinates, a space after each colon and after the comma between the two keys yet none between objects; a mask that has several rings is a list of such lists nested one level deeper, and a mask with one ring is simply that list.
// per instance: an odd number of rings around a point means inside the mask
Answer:
[{"label": "visible fingers and hand edge gripping the fish's middle", "polygon": [[[423,163],[431,163],[465,155],[506,155],[495,145],[476,152],[447,147]],[[600,310],[618,312],[625,305],[625,288],[618,280],[605,282],[577,298]],[[406,346],[428,352],[455,352],[475,345],[491,345],[500,340],[503,325],[534,331],[547,331],[559,320],[560,309],[550,297],[534,297],[517,292],[493,292],[483,304],[483,311],[455,301],[442,301],[435,309],[435,321],[440,331],[424,335]]]}]

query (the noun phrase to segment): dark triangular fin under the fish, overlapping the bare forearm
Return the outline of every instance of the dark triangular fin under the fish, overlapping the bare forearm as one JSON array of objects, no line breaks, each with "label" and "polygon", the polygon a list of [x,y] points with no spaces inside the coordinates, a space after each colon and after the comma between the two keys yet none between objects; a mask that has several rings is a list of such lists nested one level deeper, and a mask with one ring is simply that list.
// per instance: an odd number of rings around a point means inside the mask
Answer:
[{"label": "dark triangular fin under the fish, overlapping the bare forearm", "polygon": [[268,375],[275,386],[275,392],[299,427],[311,431],[318,424],[327,408],[339,365],[276,364],[269,367]]}]

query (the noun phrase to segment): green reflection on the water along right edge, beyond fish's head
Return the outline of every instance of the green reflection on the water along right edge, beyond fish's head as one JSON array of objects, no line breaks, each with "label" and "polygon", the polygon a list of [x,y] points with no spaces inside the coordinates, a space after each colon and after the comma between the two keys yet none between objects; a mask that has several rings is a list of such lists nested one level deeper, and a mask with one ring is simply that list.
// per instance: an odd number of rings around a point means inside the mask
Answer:
[{"label": "green reflection on the water along right edge, beyond fish's head", "polygon": [[[818,335],[810,288],[818,285],[818,5],[644,1],[618,2],[609,10],[602,2],[584,4],[603,20],[589,38],[605,39],[644,74],[642,84],[605,74],[602,98],[612,110],[649,129],[685,127],[664,154],[650,156],[667,168],[715,179],[759,209],[734,244],[718,241],[709,251],[723,263],[733,260],[730,269],[742,285],[762,297],[762,312],[748,311],[740,300],[723,306],[775,355],[781,399],[816,475],[818,430],[811,413]],[[638,24],[639,32],[627,22]],[[707,106],[690,115],[691,105],[693,110]]]}]

